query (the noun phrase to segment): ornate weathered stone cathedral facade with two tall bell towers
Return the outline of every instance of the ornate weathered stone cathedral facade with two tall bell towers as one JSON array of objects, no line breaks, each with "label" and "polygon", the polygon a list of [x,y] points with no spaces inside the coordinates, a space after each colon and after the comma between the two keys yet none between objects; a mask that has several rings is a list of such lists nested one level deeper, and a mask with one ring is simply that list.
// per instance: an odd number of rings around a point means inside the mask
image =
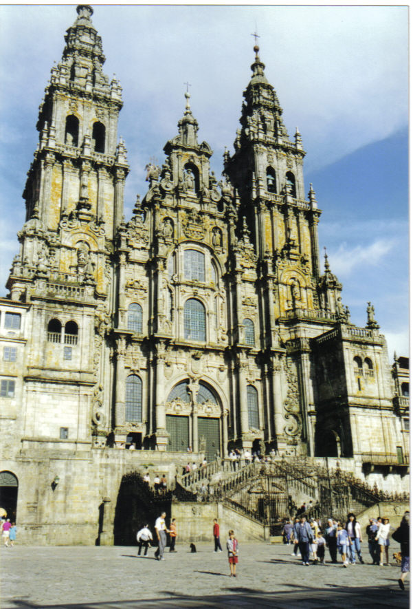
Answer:
[{"label": "ornate weathered stone cathedral facade with two tall bell towers", "polygon": [[[379,456],[405,463],[385,338],[370,303],[366,327],[350,322],[326,256],[320,267],[301,136],[289,138],[258,47],[222,177],[186,94],[125,220],[122,89],[102,70],[93,10],[77,12],[39,109],[0,301],[0,476],[19,481],[27,530],[68,522],[69,505],[89,522],[135,467],[131,444],[135,463],[158,459],[170,476],[188,448],[348,459],[360,473]],[[58,504],[43,496],[53,481],[67,484]]]}]

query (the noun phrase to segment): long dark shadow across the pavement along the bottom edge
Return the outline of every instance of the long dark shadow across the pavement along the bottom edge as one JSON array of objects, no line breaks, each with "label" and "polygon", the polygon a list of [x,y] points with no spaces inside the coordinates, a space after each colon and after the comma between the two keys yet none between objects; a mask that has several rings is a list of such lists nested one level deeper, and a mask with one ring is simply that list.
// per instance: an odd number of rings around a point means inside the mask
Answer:
[{"label": "long dark shadow across the pavement along the bottom edge", "polygon": [[[211,575],[222,575],[210,571],[199,573],[210,573]],[[232,580],[228,578],[230,585]],[[234,582],[235,583],[235,582]],[[239,582],[237,581],[237,584]],[[27,601],[13,600],[5,601],[2,609],[186,609],[186,608],[215,608],[239,607],[243,609],[256,609],[258,607],[271,609],[408,609],[409,593],[397,587],[397,581],[391,581],[389,586],[339,586],[331,596],[331,590],[322,588],[310,588],[300,584],[285,584],[285,590],[274,590],[263,592],[253,588],[241,586],[221,588],[225,593],[214,593],[203,596],[189,596],[184,594],[171,594],[166,590],[159,590],[164,598],[156,599],[131,599],[128,601],[108,601],[98,603],[59,603],[54,605],[34,604]],[[407,586],[408,588],[408,586]]]}]

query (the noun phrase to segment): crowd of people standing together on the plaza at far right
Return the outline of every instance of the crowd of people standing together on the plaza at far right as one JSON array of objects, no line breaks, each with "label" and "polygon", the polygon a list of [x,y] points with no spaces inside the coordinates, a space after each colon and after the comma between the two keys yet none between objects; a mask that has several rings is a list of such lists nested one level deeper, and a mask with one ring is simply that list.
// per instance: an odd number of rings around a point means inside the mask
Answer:
[{"label": "crowd of people standing together on the plaza at far right", "polygon": [[[391,531],[394,533],[391,535]],[[401,579],[399,586],[404,589],[404,579],[410,569],[409,554],[409,531],[410,513],[406,512],[399,528],[390,526],[387,517],[370,518],[366,527],[368,539],[368,551],[373,565],[389,565],[390,535],[395,542],[401,546]],[[297,556],[300,551],[302,564],[309,566],[310,560],[314,564],[318,562],[325,564],[325,551],[328,553],[333,564],[337,564],[337,555],[342,559],[342,565],[346,568],[349,564],[356,564],[356,557],[364,564],[361,553],[363,533],[361,525],[353,513],[349,513],[345,523],[329,518],[327,526],[322,531],[322,523],[315,518],[309,522],[304,514],[297,515],[294,522],[285,522],[282,529],[284,543],[294,544],[292,556]]]}]

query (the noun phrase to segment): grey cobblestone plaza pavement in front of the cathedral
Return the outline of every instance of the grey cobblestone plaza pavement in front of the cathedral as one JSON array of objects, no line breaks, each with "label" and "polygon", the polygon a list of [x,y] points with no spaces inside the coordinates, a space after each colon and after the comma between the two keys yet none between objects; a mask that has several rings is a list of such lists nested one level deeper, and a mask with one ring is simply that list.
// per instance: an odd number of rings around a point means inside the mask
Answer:
[{"label": "grey cobblestone plaza pavement in front of the cathedral", "polygon": [[191,554],[178,542],[163,562],[153,558],[154,548],[145,558],[121,546],[2,546],[1,608],[408,608],[410,582],[399,589],[396,565],[306,567],[291,548],[241,544],[234,579],[226,553],[206,543]]}]

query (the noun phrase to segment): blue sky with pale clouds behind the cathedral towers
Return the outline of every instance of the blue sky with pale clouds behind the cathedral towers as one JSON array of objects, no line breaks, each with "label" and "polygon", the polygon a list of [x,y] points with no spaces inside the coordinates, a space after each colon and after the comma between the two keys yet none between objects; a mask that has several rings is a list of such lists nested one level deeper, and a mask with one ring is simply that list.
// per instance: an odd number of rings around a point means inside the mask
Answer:
[{"label": "blue sky with pale clouds behind the cathedral towers", "polygon": [[[107,61],[123,87],[119,135],[131,166],[125,215],[164,161],[189,82],[199,141],[221,175],[233,150],[258,32],[267,80],[306,150],[306,191],[323,210],[320,257],[342,282],[351,321],[375,306],[390,359],[408,354],[408,8],[406,6],[95,6]],[[0,6],[0,295],[25,219],[21,197],[36,120],[76,5]]]}]

